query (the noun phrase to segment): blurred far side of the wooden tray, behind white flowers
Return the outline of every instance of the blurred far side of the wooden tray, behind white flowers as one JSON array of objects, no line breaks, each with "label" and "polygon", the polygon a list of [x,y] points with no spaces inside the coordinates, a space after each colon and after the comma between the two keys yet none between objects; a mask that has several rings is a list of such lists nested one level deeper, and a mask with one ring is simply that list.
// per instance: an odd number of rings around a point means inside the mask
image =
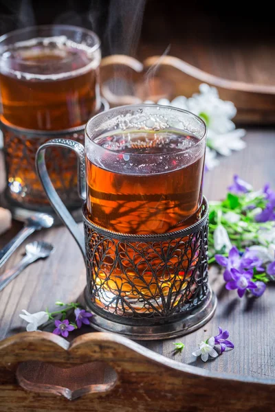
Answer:
[{"label": "blurred far side of the wooden tray, behind white flowers", "polygon": [[[107,56],[101,62],[101,79],[102,95],[111,106],[144,100],[157,102],[159,98],[172,100],[178,95],[189,98],[199,91],[199,84],[207,83],[217,87],[221,99],[234,103],[236,122],[275,123],[274,85],[219,78],[173,56],[151,56],[143,63],[124,55]],[[120,95],[111,90],[112,86]]]}]

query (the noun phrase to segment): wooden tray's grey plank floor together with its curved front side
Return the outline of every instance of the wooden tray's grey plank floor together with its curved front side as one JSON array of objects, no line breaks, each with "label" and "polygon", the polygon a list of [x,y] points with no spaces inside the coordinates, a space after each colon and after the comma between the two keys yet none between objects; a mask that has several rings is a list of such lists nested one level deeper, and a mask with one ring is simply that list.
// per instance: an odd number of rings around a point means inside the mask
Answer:
[{"label": "wooden tray's grey plank floor together with its curved front side", "polygon": [[[203,191],[208,199],[223,198],[234,173],[250,181],[255,190],[267,181],[275,187],[274,137],[272,129],[250,129],[245,137],[248,147],[221,158],[219,167],[206,174]],[[2,176],[0,153],[0,180]],[[20,228],[19,222],[13,222],[12,229],[0,237],[0,247]],[[46,307],[54,310],[56,300],[79,301],[86,284],[83,258],[64,227],[34,233],[28,241],[33,240],[52,242],[56,251],[49,259],[30,265],[0,293],[1,412],[275,411],[274,285],[268,286],[260,299],[239,299],[234,291],[225,290],[221,273],[212,268],[210,283],[219,300],[217,312],[204,328],[178,339],[186,345],[182,354],[173,351],[174,339],[140,345],[96,332],[77,337],[69,344],[48,333],[22,333],[25,324],[19,313],[21,309],[31,313]],[[3,270],[17,264],[23,251],[24,246]],[[207,363],[195,361],[191,353],[197,343],[216,334],[218,326],[230,331],[234,350]],[[106,365],[81,367],[102,360],[115,369],[115,386],[113,371]],[[22,365],[27,361],[61,368],[78,365],[80,369],[56,373],[41,364]],[[46,380],[49,374],[50,382]],[[35,382],[30,382],[30,376]],[[65,382],[68,391],[60,387]],[[83,389],[87,382],[88,389]],[[45,389],[49,391],[44,392]],[[70,397],[75,399],[69,400]]]}]

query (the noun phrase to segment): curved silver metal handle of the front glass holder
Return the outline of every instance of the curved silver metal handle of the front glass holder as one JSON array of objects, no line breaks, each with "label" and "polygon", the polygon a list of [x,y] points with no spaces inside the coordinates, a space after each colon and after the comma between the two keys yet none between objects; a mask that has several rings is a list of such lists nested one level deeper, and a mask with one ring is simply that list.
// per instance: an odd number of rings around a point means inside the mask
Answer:
[{"label": "curved silver metal handle of the front glass holder", "polygon": [[74,218],[69,213],[67,207],[65,207],[63,201],[61,201],[61,198],[56,193],[56,190],[54,189],[50,176],[47,172],[47,167],[45,163],[45,152],[47,148],[52,148],[54,146],[58,146],[61,148],[69,148],[76,152],[76,155],[78,157],[78,194],[80,198],[85,200],[86,179],[84,146],[78,143],[77,141],[69,139],[52,139],[50,141],[47,141],[47,143],[43,144],[36,152],[36,170],[52,207],[56,211],[56,214],[58,214],[58,216],[61,218],[64,225],[67,226],[69,231],[72,233],[72,236],[74,236],[76,243],[78,244],[81,252],[83,253],[83,258],[85,258],[85,242],[83,233],[81,233]]}]

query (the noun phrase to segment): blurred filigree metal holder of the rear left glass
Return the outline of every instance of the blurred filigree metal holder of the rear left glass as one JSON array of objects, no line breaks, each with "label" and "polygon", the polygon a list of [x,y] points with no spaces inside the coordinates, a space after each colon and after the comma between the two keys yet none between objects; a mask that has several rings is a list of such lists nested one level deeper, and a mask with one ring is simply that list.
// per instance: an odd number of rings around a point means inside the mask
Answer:
[{"label": "blurred filigree metal holder of the rear left glass", "polygon": [[[102,100],[100,111],[108,108]],[[3,131],[6,187],[3,203],[8,207],[21,207],[52,213],[53,209],[41,186],[35,168],[35,155],[39,147],[50,139],[72,139],[84,144],[85,125],[67,130],[29,130],[0,122]],[[82,202],[77,190],[76,155],[72,150],[53,148],[46,156],[52,183],[63,203],[70,210],[80,209]]]}]

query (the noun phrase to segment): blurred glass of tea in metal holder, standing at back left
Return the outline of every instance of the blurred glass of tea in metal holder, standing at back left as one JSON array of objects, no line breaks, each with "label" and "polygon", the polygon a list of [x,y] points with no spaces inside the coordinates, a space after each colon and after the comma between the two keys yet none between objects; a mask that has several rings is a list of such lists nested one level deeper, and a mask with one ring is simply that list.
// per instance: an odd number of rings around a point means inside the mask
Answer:
[{"label": "blurred glass of tea in metal holder, standing at back left", "polygon": [[[51,211],[36,176],[36,150],[52,137],[84,141],[88,119],[104,109],[100,59],[98,36],[81,27],[41,25],[0,37],[0,123],[8,204]],[[67,207],[80,207],[72,152],[54,150],[47,163]]]}]

